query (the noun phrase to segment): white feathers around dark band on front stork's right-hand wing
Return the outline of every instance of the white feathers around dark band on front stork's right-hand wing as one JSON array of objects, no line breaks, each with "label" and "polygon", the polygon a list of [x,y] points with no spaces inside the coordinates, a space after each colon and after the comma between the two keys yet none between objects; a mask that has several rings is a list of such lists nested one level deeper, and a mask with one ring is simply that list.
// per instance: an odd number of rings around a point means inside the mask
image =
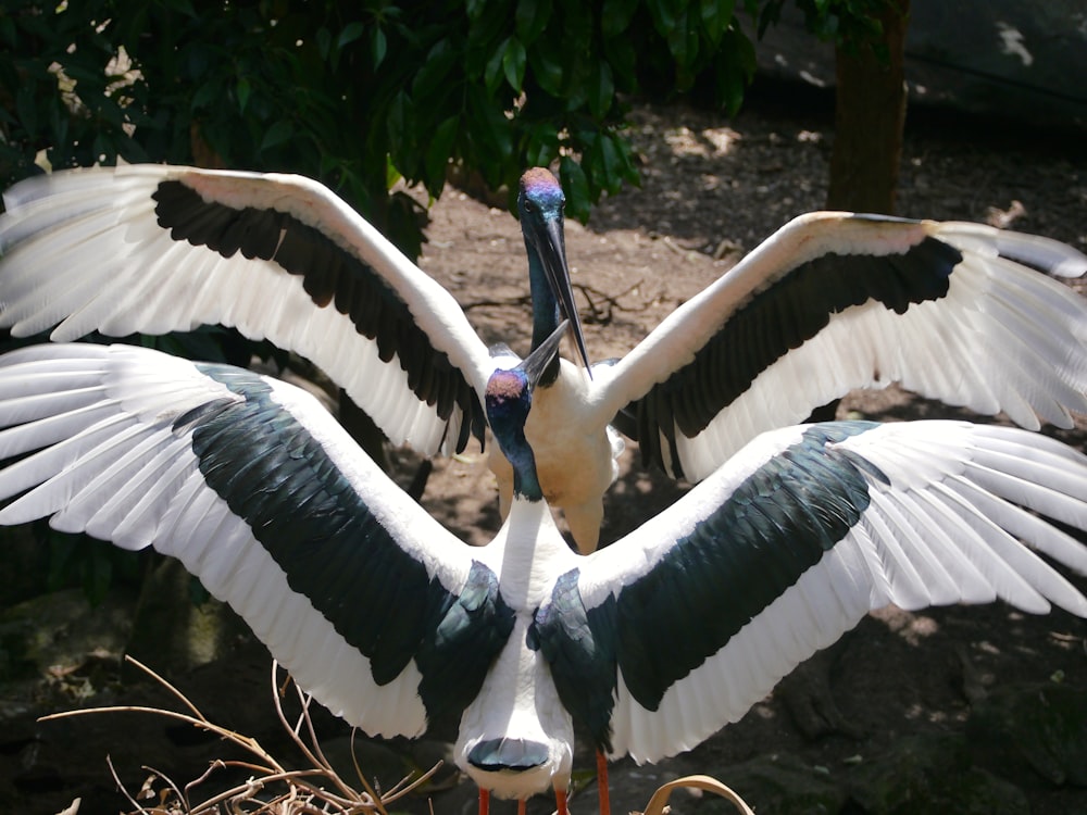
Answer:
[{"label": "white feathers around dark band on front stork's right-hand wing", "polygon": [[[800,439],[764,434],[655,518],[582,567],[587,607],[647,574],[739,484]],[[739,719],[796,665],[870,611],[1000,598],[1087,616],[1087,599],[1042,560],[1087,574],[1087,547],[1033,512],[1087,528],[1087,456],[1026,430],[958,422],[882,425],[832,447],[875,466],[861,522],[716,654],[642,707],[620,677],[613,753],[657,761]],[[860,471],[864,472],[864,471]],[[1020,540],[1020,538],[1022,540]],[[722,541],[728,546],[728,541]]]}]

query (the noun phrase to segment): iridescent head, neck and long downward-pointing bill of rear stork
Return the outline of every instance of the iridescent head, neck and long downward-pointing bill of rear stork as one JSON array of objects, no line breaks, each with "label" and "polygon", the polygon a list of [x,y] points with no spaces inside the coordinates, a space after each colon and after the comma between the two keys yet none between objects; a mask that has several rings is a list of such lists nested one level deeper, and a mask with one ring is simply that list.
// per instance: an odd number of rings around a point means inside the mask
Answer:
[{"label": "iridescent head, neck and long downward-pointing bill of rear stork", "polygon": [[[517,214],[528,252],[528,279],[533,293],[533,348],[554,331],[562,319],[570,321],[577,353],[589,367],[582,322],[574,305],[574,291],[566,265],[566,239],[563,208],[566,197],[562,185],[544,167],[533,167],[521,176]],[[553,380],[557,368],[548,372],[544,384]]]}]

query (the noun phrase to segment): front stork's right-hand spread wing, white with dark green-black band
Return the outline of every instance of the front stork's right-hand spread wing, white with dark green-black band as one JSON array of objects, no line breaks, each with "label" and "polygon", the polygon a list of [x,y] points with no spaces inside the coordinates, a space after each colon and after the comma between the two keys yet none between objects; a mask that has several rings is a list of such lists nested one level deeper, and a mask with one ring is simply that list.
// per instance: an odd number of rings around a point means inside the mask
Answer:
[{"label": "front stork's right-hand spread wing, white with dark green-black band", "polygon": [[1087,456],[969,423],[764,434],[585,559],[537,615],[560,698],[613,755],[655,761],[739,719],[873,609],[1087,599]]}]

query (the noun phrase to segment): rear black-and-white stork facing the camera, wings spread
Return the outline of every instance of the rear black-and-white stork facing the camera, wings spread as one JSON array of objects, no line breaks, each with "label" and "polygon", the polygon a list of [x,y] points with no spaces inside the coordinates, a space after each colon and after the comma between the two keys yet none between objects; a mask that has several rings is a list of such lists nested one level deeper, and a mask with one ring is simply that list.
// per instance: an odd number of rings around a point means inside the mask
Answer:
[{"label": "rear black-and-white stork facing the camera, wings spread", "polygon": [[[541,254],[564,254],[563,198],[540,168],[521,193],[538,341],[557,306],[576,315],[565,261]],[[315,181],[101,167],[4,200],[0,327],[15,336],[236,326],[308,356],[395,443],[430,454],[482,436],[496,364],[461,308]],[[1087,302],[1035,269],[1080,276],[1087,256],[978,224],[802,215],[591,379],[561,362],[526,429],[544,493],[592,551],[616,473],[609,423],[646,463],[698,481],[761,431],[895,381],[1030,429],[1071,426],[1087,414]],[[505,507],[512,471],[492,466]]]}]

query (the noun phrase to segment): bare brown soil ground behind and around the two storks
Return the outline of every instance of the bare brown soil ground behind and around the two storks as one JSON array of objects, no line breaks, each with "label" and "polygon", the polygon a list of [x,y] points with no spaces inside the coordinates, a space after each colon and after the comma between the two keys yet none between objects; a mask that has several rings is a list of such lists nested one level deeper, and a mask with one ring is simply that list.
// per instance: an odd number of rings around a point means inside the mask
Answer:
[{"label": "bare brown soil ground behind and around the two storks", "polygon": [[[633,348],[775,228],[795,215],[821,209],[825,196],[833,122],[824,98],[757,92],[730,121],[690,108],[639,106],[633,122],[641,188],[601,202],[588,226],[566,227],[587,343],[596,360]],[[1008,123],[912,112],[898,212],[997,223],[1087,251],[1087,156],[1080,147],[1082,140],[1030,133]],[[513,344],[524,352],[528,338],[524,249],[509,212],[449,189],[430,209],[427,236],[423,268],[454,292],[485,340],[520,338],[522,347]],[[1074,285],[1087,293],[1085,281]],[[839,415],[895,421],[967,415],[898,389],[851,394],[838,410]],[[1054,435],[1084,449],[1087,422]],[[684,489],[640,468],[635,447],[628,444],[622,477],[608,496],[604,542],[635,528]],[[393,459],[398,473],[410,478],[415,457],[398,451]],[[493,481],[479,455],[439,463],[427,484],[425,503],[473,543],[486,542],[498,527]],[[1077,585],[1087,590],[1087,580]],[[834,777],[886,753],[908,736],[962,732],[979,697],[1013,682],[1050,682],[1055,677],[1065,686],[1087,688],[1087,623],[1060,611],[1033,617],[1000,604],[915,614],[888,610],[871,615],[847,635],[822,667],[844,728],[807,738],[783,699],[787,694],[776,691],[741,722],[689,753],[657,766],[636,767],[628,760],[613,764],[613,811],[642,810],[660,782],[679,775],[708,774],[727,783],[730,767],[755,756],[798,756],[802,766]],[[242,634],[225,664],[174,680],[210,716],[218,713],[238,729],[250,727],[243,731],[259,732],[265,743],[274,739],[275,729],[270,724],[267,670],[266,654]],[[162,701],[147,686],[115,695],[125,703]],[[116,812],[125,803],[110,797],[107,754],[113,755],[118,769],[125,762],[133,765],[126,779],[135,778],[138,789],[142,776],[133,767],[152,764],[167,770],[174,765],[167,773],[187,779],[195,775],[186,776],[175,762],[184,755],[199,767],[200,758],[193,756],[205,755],[209,748],[195,753],[170,741],[178,731],[167,731],[168,723],[149,717],[96,723],[34,729],[35,749],[51,756],[48,762],[40,755],[34,761],[55,772],[30,773],[40,781],[33,789],[33,811],[57,812],[82,794],[80,812]],[[323,726],[333,730],[335,741],[334,723]],[[167,748],[162,748],[164,739]],[[222,745],[210,745],[216,747]],[[592,757],[582,747],[578,769],[591,777]],[[8,754],[12,762],[26,762],[27,750],[16,745]],[[365,762],[363,768],[378,775]],[[388,772],[378,775],[386,788],[400,777],[397,768]],[[1087,812],[1087,791],[1047,782],[1022,761],[1017,767],[997,772],[1026,792],[1033,813]],[[433,811],[466,812],[472,795],[470,785],[457,785],[435,794]],[[673,802],[677,812],[704,803],[691,797]],[[750,803],[759,807],[760,801]],[[425,811],[420,803],[405,806]],[[591,780],[573,806],[578,812],[596,806]],[[551,802],[537,799],[532,808],[550,812]],[[512,804],[496,804],[496,812],[512,813]]]}]

